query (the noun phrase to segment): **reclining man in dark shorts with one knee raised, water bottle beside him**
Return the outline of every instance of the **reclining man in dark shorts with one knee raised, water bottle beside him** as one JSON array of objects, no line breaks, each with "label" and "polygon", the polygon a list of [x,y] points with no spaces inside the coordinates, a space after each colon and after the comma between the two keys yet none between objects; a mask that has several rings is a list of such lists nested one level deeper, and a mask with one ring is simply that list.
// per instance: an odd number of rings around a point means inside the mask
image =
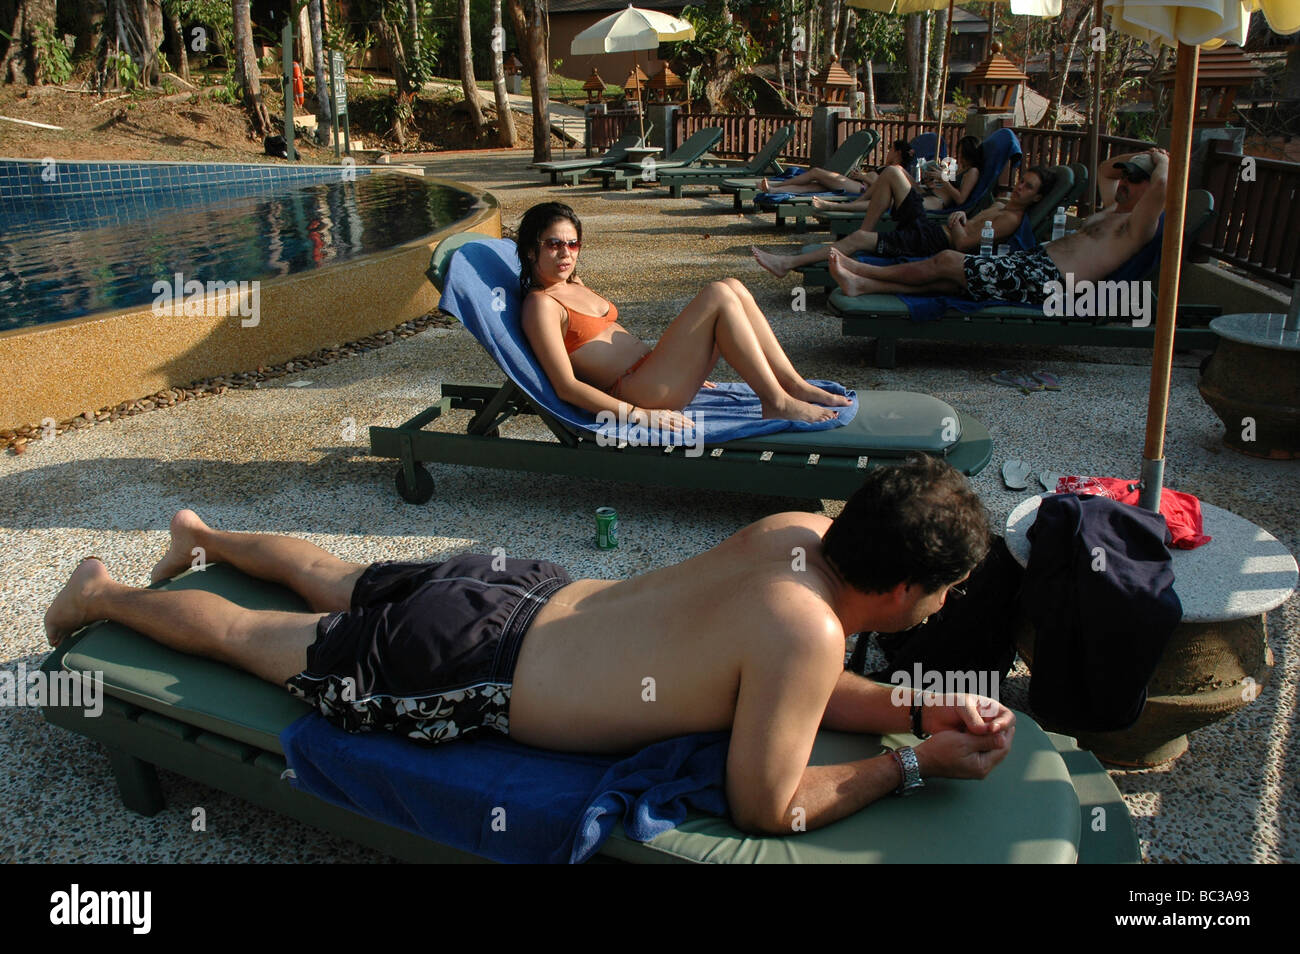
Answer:
[{"label": "reclining man in dark shorts with one knee raised, water bottle beside him", "polygon": [[979,250],[984,222],[993,224],[994,242],[1010,238],[1020,227],[1030,207],[1041,199],[1044,192],[1049,192],[1054,185],[1056,177],[1044,166],[1036,165],[1024,173],[1015,185],[1010,199],[1005,203],[994,203],[974,218],[967,218],[965,212],[954,212],[944,225],[927,216],[919,201],[905,201],[894,213],[894,220],[898,222],[894,231],[875,233],[859,229],[849,233],[833,246],[820,246],[798,255],[764,252],[758,246],[750,246],[750,251],[758,264],[777,278],[784,278],[790,269],[826,261],[832,248],[844,255],[864,251],[883,259],[920,259],[937,255],[945,248],[972,252]]}]

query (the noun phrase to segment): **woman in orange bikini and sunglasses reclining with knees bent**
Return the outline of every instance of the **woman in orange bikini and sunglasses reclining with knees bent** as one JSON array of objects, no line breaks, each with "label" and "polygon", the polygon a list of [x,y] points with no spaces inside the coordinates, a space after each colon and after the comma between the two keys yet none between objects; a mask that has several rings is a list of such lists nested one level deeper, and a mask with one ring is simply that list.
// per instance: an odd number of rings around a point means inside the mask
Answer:
[{"label": "woman in orange bikini and sunglasses reclining with knees bent", "polygon": [[[807,383],[790,365],[754,296],[734,278],[711,282],[653,348],[619,324],[619,309],[573,274],[582,224],[568,205],[543,203],[519,224],[523,326],[555,394],[599,413],[649,412],[663,428],[680,413],[718,357],[758,394],[763,417],[824,421],[846,398]],[[823,407],[819,407],[823,406]],[[829,407],[824,407],[829,406]]]}]

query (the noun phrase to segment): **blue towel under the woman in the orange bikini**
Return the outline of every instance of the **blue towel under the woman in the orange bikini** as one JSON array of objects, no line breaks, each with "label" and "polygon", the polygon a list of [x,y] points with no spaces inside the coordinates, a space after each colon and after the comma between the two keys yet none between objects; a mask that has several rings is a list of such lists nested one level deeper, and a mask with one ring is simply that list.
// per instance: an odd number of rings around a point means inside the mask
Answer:
[{"label": "blue towel under the woman in the orange bikini", "polygon": [[[447,268],[439,307],[460,318],[510,380],[538,406],[573,428],[615,437],[614,428],[602,426],[590,411],[560,400],[546,372],[537,364],[520,325],[519,253],[514,242],[486,239],[462,246]],[[820,424],[764,420],[758,395],[749,385],[720,383],[718,387],[701,389],[686,406],[684,413],[696,425],[689,434],[663,432],[646,435],[644,429],[623,428],[618,437],[629,443],[647,443],[646,437],[653,437],[660,445],[696,446],[699,441],[718,445],[783,430],[827,430],[848,424],[858,413],[858,398],[853,391],[833,381],[812,383],[835,394],[845,394],[853,403],[837,408],[837,417]]]}]

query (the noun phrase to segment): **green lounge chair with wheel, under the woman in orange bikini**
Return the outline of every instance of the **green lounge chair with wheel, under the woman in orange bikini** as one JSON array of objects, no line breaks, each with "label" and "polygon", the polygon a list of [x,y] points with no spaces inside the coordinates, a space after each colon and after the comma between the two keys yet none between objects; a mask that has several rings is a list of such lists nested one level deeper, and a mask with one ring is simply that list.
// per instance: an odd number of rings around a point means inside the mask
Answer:
[{"label": "green lounge chair with wheel, under the woman in orange bikini", "polygon": [[[460,233],[434,250],[429,276],[439,290],[455,251],[482,238]],[[464,434],[425,430],[458,409],[473,412]],[[503,437],[500,426],[524,415],[541,419],[556,439]],[[988,464],[993,447],[987,428],[974,417],[930,395],[905,391],[864,393],[857,417],[840,428],[706,445],[703,454],[692,458],[680,447],[602,446],[595,434],[569,426],[510,380],[503,385],[446,382],[442,400],[433,407],[396,428],[370,428],[370,454],[399,461],[398,493],[411,503],[424,503],[434,491],[424,461],[846,500],[862,483],[863,468],[916,451],[941,455],[958,471],[975,474]]]}]

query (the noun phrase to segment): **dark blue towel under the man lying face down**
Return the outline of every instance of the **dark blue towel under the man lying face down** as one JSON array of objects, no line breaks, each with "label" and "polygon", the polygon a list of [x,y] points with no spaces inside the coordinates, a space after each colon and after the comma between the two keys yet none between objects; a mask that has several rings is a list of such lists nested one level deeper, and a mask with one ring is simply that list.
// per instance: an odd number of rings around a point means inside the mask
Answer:
[{"label": "dark blue towel under the man lying face down", "polygon": [[584,862],[623,823],[634,841],[694,810],[727,816],[731,734],[680,736],[627,758],[530,749],[495,733],[425,746],[354,734],[309,712],[280,733],[294,786],[498,862]]}]

